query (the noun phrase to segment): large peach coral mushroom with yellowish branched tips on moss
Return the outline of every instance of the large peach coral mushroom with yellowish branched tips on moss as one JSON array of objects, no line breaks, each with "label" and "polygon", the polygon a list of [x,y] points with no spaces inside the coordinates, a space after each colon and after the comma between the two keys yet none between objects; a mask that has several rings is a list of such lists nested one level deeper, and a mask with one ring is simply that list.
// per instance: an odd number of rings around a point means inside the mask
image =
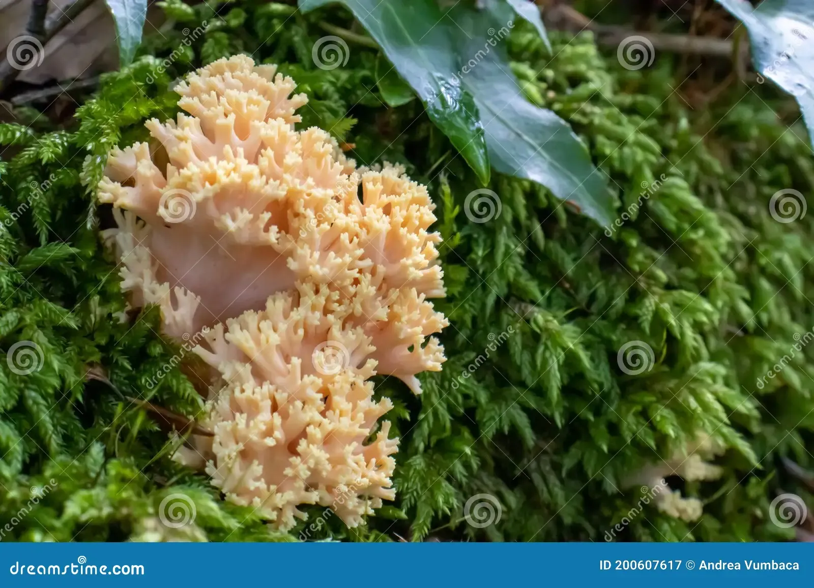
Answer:
[{"label": "large peach coral mushroom with yellowish branched tips on moss", "polygon": [[370,377],[418,394],[416,374],[444,361],[428,300],[444,296],[441,237],[403,168],[357,170],[322,129],[295,129],[294,88],[245,55],[187,76],[187,114],[111,151],[98,199],[118,226],[103,236],[129,303],[159,305],[164,332],[217,370],[214,436],[196,446],[213,483],[280,529],[300,504],[356,526],[394,497],[390,423],[365,444],[392,407]]}]

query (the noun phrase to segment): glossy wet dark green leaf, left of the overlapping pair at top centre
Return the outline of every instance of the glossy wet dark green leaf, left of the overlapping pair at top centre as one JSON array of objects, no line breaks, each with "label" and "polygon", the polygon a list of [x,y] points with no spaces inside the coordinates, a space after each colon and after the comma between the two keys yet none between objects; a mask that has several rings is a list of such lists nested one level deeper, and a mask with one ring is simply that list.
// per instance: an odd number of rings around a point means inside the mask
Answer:
[{"label": "glossy wet dark green leaf, left of the overlapping pair at top centre", "polygon": [[[300,0],[300,10],[329,0]],[[365,27],[387,59],[413,87],[427,115],[488,184],[491,168],[475,101],[456,76],[456,36],[441,22],[434,0],[339,0]]]}]

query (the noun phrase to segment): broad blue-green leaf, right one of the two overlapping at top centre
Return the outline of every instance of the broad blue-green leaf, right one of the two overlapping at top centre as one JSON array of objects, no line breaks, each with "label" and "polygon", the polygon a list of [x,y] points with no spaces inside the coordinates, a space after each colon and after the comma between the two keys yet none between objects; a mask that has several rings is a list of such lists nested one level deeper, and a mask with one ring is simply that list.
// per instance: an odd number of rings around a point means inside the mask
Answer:
[{"label": "broad blue-green leaf, right one of the two overlapping at top centre", "polygon": [[558,115],[527,101],[501,44],[484,46],[488,30],[499,22],[486,12],[462,7],[446,18],[462,32],[461,54],[473,55],[461,79],[475,97],[492,166],[545,185],[602,226],[612,223],[613,201],[588,150]]}]

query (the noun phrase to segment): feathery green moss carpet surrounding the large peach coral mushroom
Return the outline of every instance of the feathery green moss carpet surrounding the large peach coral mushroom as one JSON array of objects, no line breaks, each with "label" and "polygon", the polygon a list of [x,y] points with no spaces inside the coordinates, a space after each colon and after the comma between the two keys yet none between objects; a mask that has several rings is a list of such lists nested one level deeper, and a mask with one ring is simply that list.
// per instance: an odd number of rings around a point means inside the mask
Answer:
[{"label": "feathery green moss carpet surrounding the large peach coral mushroom", "polygon": [[[145,118],[173,116],[177,76],[254,46],[309,94],[304,124],[333,129],[360,164],[405,163],[427,183],[445,237],[444,371],[422,376],[419,398],[377,381],[402,438],[396,503],[354,530],[308,509],[292,538],[600,541],[640,499],[625,478],[699,430],[727,448],[716,460],[724,475],[671,483],[702,499],[700,522],[650,505],[621,538],[788,536],[768,522],[768,505],[781,484],[810,498],[778,468],[786,456],[811,466],[814,364],[807,347],[790,350],[814,327],[814,247],[811,217],[779,223],[769,200],[811,193],[814,160],[799,128],[768,106],[781,98],[744,87],[692,111],[672,91],[669,59],[628,72],[587,35],[554,35],[551,59],[518,27],[510,50],[528,97],[570,121],[628,214],[598,227],[540,186],[498,176],[501,213],[478,224],[466,197],[479,185],[418,101],[383,106],[375,50],[352,46],[346,67],[323,72],[310,56],[317,16],[240,2],[221,21],[208,5],[177,4],[168,10],[183,24],[142,48],[156,57],[106,76],[76,127],[0,125],[16,152],[0,163],[0,349],[28,341],[42,355],[28,375],[0,361],[0,528],[17,518],[3,540],[168,538],[154,523],[173,493],[197,513],[182,538],[282,538],[169,460],[166,430],[129,400],[201,410],[177,368],[147,385],[178,350],[157,334],[155,310],[120,322],[116,270],[91,222],[107,214],[91,197],[107,150],[142,139]],[[335,22],[347,18],[337,11]],[[653,351],[638,375],[617,361],[632,341]],[[55,488],[28,508],[31,487],[51,478]],[[466,522],[476,494],[500,503],[496,524]]]}]

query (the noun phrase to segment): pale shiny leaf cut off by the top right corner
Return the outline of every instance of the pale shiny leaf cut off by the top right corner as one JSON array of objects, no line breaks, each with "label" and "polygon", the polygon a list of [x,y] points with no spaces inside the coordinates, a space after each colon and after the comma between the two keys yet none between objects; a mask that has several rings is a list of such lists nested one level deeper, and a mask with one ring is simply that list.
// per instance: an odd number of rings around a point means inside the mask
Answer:
[{"label": "pale shiny leaf cut off by the top right corner", "polygon": [[814,142],[814,2],[718,2],[746,25],[755,68],[794,96]]}]

